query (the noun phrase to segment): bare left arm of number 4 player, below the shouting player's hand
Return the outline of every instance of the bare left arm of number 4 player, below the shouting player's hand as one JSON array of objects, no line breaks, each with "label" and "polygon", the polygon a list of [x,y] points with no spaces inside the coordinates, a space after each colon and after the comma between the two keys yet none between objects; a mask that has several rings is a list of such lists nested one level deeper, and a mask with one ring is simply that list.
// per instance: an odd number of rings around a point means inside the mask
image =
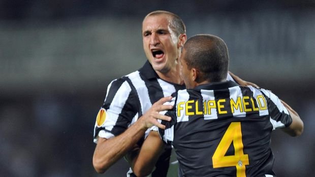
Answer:
[{"label": "bare left arm of number 4 player, below the shouting player's hand", "polygon": [[133,172],[138,176],[149,175],[164,150],[164,143],[157,131],[150,131],[141,147],[139,155],[130,162]]}]

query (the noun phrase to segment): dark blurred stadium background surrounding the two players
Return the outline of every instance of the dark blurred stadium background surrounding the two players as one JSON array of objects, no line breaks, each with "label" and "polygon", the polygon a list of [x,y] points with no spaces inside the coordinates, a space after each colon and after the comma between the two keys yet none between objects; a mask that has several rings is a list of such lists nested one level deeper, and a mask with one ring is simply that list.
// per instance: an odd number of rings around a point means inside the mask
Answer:
[{"label": "dark blurred stadium background surrounding the two players", "polygon": [[273,134],[274,170],[314,176],[315,1],[0,0],[1,176],[125,176],[123,160],[94,171],[93,126],[109,82],[146,61],[153,10],[224,39],[233,73],[299,112],[302,136]]}]

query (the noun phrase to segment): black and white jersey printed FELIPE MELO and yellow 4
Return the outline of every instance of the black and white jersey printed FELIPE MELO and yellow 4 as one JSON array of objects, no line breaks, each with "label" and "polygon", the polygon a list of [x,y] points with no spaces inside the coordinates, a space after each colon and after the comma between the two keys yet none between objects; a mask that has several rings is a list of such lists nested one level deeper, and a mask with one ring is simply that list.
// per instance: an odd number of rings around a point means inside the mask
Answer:
[{"label": "black and white jersey printed FELIPE MELO and yellow 4", "polygon": [[[235,82],[179,90],[159,129],[183,176],[275,176],[271,132],[292,123],[272,92]],[[152,128],[157,130],[157,128]]]}]

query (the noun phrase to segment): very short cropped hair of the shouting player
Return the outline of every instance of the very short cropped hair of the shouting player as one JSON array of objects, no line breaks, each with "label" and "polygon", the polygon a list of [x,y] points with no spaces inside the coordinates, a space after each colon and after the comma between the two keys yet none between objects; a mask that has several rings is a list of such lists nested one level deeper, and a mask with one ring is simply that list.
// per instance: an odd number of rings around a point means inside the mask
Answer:
[{"label": "very short cropped hair of the shouting player", "polygon": [[175,32],[176,36],[179,36],[180,34],[186,33],[186,26],[185,26],[184,22],[182,21],[182,19],[178,15],[176,15],[172,12],[153,11],[153,12],[149,13],[148,15],[146,15],[145,18],[147,18],[149,16],[155,16],[155,15],[161,15],[161,14],[165,14],[165,15],[168,15],[171,17],[169,25],[170,25],[170,28],[172,29],[172,31]]}]

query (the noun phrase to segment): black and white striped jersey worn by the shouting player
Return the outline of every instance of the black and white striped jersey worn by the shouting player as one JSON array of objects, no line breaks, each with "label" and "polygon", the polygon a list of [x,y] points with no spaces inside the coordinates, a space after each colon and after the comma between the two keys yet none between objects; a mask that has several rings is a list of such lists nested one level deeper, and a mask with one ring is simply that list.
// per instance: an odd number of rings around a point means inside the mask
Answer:
[{"label": "black and white striped jersey worn by the shouting player", "polygon": [[[179,77],[179,76],[178,76]],[[233,78],[228,75],[228,80]],[[98,137],[111,138],[124,132],[138,120],[152,104],[165,96],[170,96],[177,90],[184,89],[184,85],[166,82],[157,76],[151,64],[146,61],[144,66],[127,76],[113,80],[108,88],[97,120],[94,125],[94,143]],[[149,129],[146,135],[149,133]],[[139,142],[142,145],[144,138]],[[171,148],[167,147],[161,158],[169,159]],[[152,176],[166,176],[168,163],[159,159]]]}]

